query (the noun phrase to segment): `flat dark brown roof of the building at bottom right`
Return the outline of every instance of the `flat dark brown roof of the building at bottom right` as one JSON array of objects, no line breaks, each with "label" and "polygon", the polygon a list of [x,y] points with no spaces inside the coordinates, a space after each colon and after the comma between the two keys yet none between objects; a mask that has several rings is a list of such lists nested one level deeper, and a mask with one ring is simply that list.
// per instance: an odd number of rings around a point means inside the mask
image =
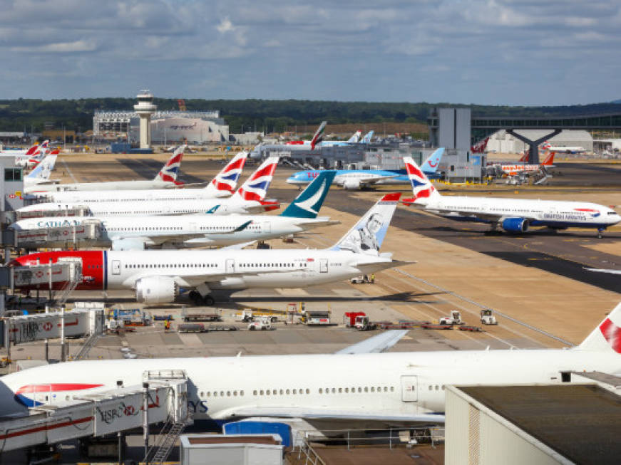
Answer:
[{"label": "flat dark brown roof of the building at bottom right", "polygon": [[457,387],[578,464],[618,464],[621,397],[597,385]]}]

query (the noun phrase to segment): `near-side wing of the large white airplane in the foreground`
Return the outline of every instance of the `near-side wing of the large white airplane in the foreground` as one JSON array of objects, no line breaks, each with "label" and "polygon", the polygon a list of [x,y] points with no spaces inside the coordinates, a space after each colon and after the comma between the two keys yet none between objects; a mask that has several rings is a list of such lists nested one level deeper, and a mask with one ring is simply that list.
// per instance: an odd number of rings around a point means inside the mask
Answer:
[{"label": "near-side wing of the large white airplane in the foreground", "polygon": [[443,423],[443,414],[402,414],[399,412],[369,412],[364,410],[344,410],[328,408],[305,407],[253,407],[246,406],[231,409],[226,412],[232,417],[275,417],[275,418],[303,418],[303,419],[348,419],[374,420],[384,422],[425,422]]}]

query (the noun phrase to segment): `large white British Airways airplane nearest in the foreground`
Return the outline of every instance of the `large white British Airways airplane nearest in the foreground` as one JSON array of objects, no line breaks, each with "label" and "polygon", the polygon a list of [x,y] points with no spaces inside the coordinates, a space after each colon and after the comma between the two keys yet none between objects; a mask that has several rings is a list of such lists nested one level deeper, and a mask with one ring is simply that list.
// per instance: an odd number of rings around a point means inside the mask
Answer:
[{"label": "large white British Airways airplane nearest in the foreground", "polygon": [[308,422],[444,421],[446,385],[562,385],[571,372],[621,374],[621,304],[570,349],[378,353],[407,331],[322,355],[86,360],[0,378],[0,414],[143,382],[150,370],[185,371],[194,419],[294,417]]}]

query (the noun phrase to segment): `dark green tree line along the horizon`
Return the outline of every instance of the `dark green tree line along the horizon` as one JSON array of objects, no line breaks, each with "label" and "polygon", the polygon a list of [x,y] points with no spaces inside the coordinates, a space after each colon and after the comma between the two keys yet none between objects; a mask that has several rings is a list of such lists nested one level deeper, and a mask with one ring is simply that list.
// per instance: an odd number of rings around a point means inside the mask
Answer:
[{"label": "dark green tree line along the horizon", "polygon": [[[159,110],[177,110],[173,98],[155,98]],[[95,110],[130,110],[135,98],[81,98],[0,100],[0,131],[41,132],[46,122],[59,129],[84,132],[93,128]],[[594,103],[555,107],[513,107],[508,105],[461,105],[453,103],[376,103],[322,100],[204,100],[185,99],[188,110],[220,110],[230,132],[282,132],[294,125],[364,122],[420,122],[426,124],[436,107],[471,108],[473,116],[549,117],[617,113],[621,103]]]}]

